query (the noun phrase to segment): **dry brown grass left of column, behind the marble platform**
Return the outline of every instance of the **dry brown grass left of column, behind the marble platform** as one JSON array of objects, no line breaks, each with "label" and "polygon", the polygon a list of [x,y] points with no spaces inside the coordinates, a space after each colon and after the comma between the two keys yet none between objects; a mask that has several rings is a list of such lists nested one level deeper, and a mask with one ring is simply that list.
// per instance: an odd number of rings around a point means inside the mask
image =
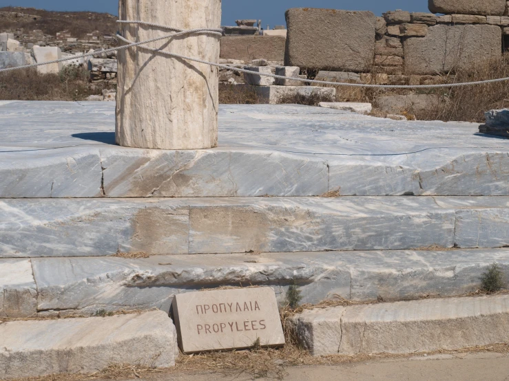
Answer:
[{"label": "dry brown grass left of column, behind the marble platform", "polygon": [[60,74],[39,74],[36,69],[0,74],[0,100],[85,100],[101,95],[103,85],[88,82],[85,67],[65,67]]}]

